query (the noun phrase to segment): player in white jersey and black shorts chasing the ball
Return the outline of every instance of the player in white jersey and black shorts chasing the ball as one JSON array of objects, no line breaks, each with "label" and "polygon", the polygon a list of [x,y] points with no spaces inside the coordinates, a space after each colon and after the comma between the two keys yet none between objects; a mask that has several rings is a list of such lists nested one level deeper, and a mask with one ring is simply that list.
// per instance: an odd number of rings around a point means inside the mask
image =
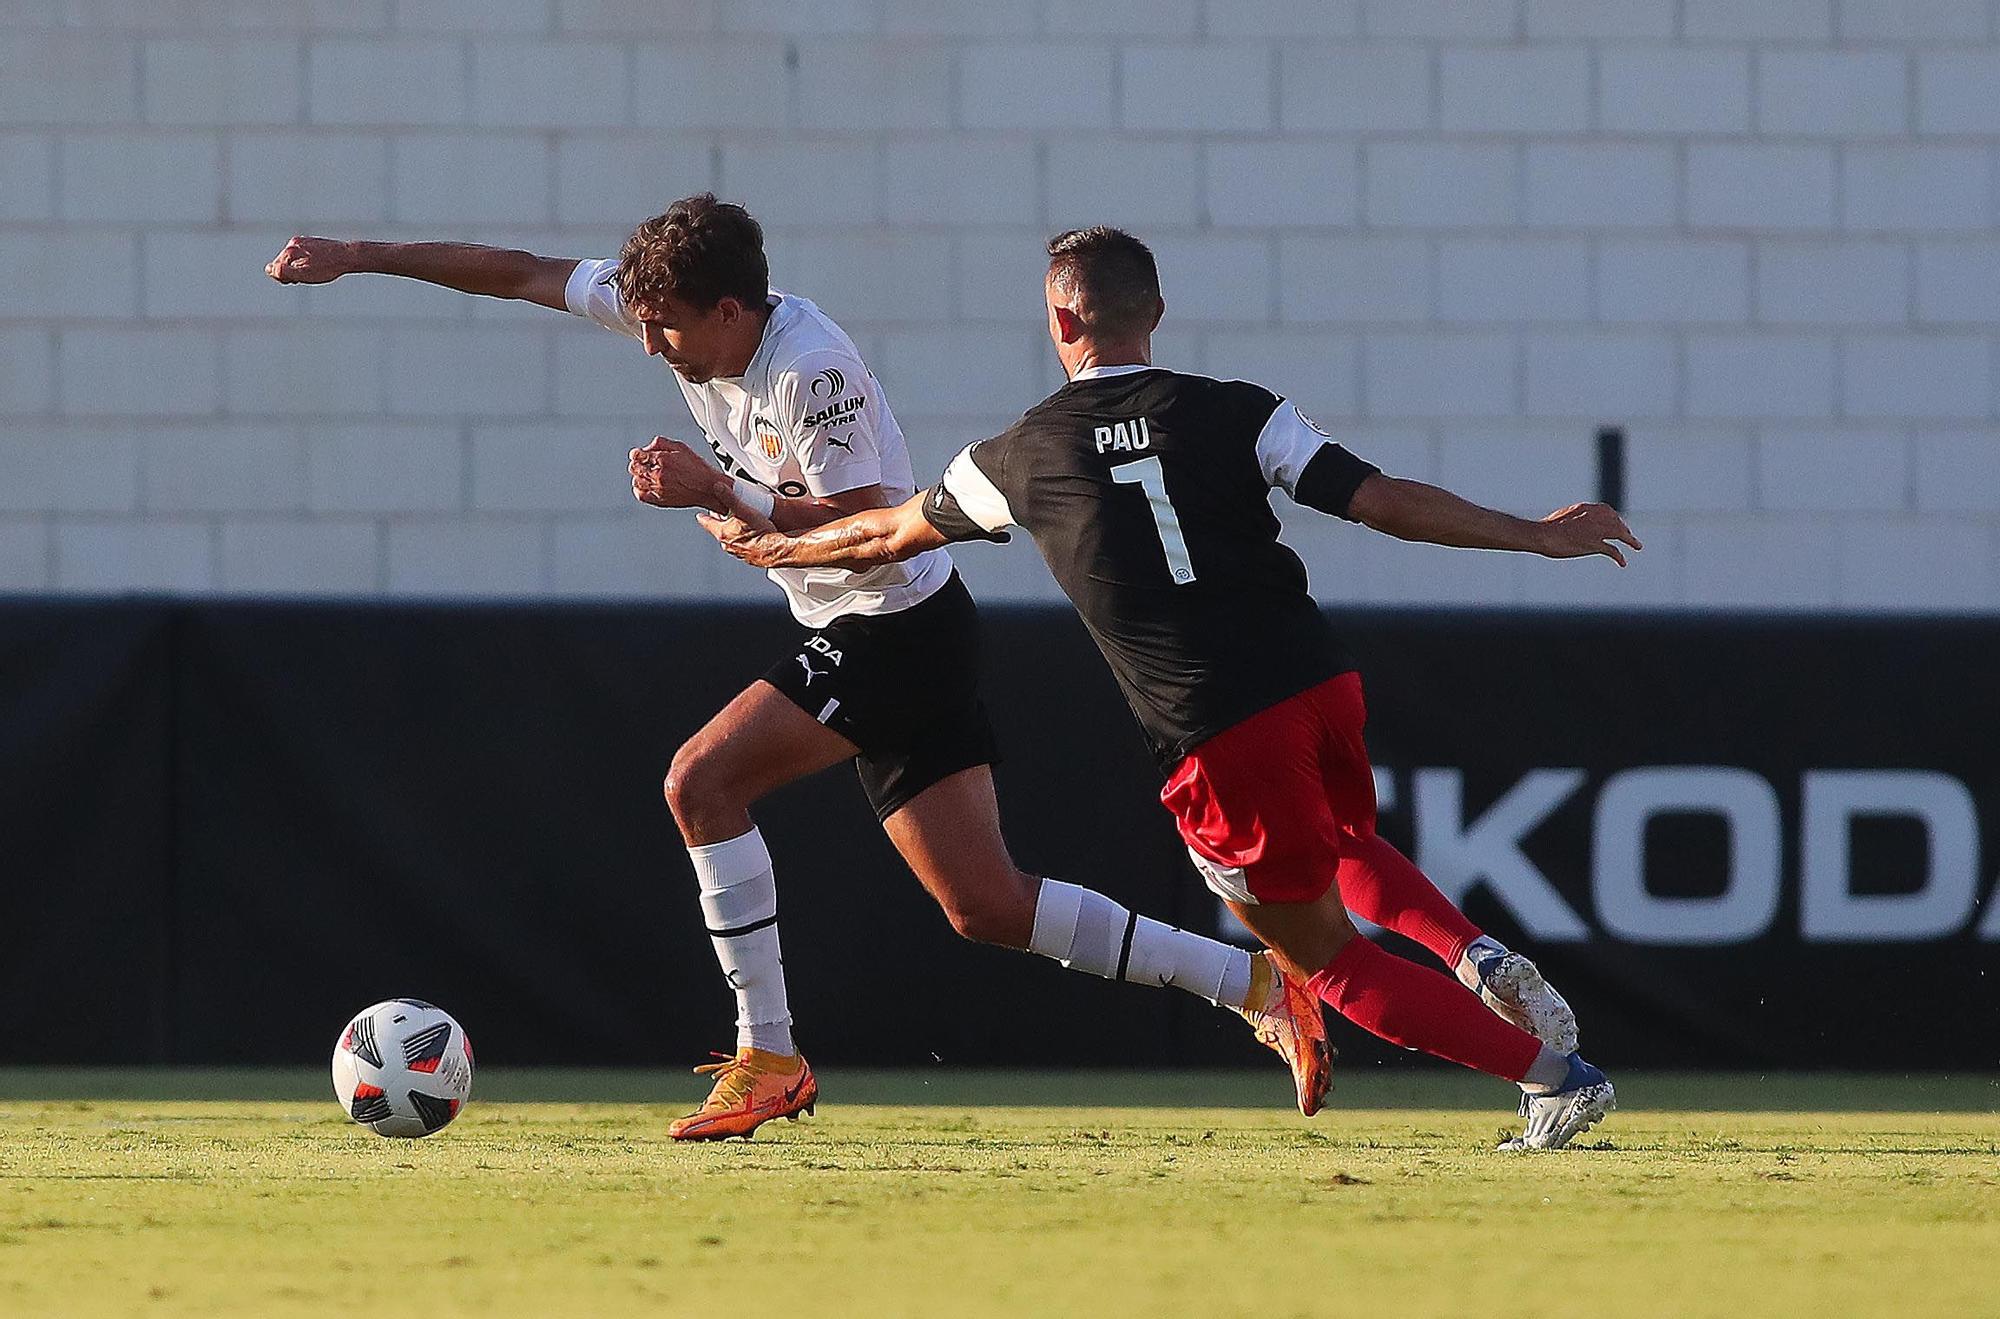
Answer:
[{"label": "player in white jersey and black shorts chasing the ball", "polygon": [[[646,504],[750,506],[808,530],[914,494],[902,432],[854,342],[804,298],[770,290],[756,220],[710,194],[640,224],[616,260],[294,238],[268,272],[286,284],[404,276],[536,302],[638,340],[672,368],[722,466],[656,438],[628,456],[634,496]],[[736,1053],[698,1069],[714,1073],[714,1087],[672,1137],[750,1135],[812,1111],[818,1083],[792,1041],[778,889],[750,805],[848,759],[890,841],[958,933],[1236,1009],[1292,1067],[1300,1109],[1318,1109],[1328,1085],[1324,1023],[1276,959],[1014,865],[994,803],[974,606],[944,550],[864,572],[770,576],[806,636],[696,731],[666,775],[716,959],[736,993]]]}]

